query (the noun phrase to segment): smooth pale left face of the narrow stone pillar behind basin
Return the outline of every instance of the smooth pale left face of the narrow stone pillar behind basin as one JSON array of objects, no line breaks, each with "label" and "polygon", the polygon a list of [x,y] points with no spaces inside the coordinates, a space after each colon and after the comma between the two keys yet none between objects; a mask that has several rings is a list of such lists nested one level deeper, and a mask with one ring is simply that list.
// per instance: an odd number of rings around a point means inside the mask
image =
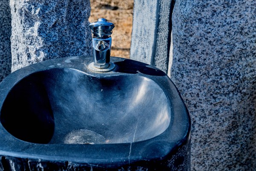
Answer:
[{"label": "smooth pale left face of the narrow stone pillar behind basin", "polygon": [[145,1],[134,0],[137,5],[134,8],[130,59],[151,64],[157,20],[157,13],[151,11],[157,10],[157,0]]}]

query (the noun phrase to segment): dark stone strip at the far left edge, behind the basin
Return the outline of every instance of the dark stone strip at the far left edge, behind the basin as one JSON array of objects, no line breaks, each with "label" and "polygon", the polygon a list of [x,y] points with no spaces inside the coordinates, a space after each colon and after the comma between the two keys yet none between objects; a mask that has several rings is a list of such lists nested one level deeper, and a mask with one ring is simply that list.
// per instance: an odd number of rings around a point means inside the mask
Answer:
[{"label": "dark stone strip at the far left edge, behind the basin", "polygon": [[0,0],[0,82],[11,73],[11,20],[9,0]]}]

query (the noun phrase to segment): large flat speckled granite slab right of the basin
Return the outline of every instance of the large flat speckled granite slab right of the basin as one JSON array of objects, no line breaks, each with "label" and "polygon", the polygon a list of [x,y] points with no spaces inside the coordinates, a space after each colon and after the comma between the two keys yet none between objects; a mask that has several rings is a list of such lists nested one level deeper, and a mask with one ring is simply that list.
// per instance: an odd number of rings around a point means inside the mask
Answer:
[{"label": "large flat speckled granite slab right of the basin", "polygon": [[176,0],[171,78],[192,118],[191,168],[256,169],[256,1]]}]

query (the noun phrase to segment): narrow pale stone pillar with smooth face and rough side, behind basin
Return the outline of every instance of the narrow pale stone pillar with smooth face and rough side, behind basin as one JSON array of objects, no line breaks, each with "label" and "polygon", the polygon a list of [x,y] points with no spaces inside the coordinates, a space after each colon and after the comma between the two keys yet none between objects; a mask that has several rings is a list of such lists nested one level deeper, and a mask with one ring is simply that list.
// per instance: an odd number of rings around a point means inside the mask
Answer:
[{"label": "narrow pale stone pillar with smooth face and rough side, behind basin", "polygon": [[171,0],[134,0],[130,59],[167,73],[171,43]]}]

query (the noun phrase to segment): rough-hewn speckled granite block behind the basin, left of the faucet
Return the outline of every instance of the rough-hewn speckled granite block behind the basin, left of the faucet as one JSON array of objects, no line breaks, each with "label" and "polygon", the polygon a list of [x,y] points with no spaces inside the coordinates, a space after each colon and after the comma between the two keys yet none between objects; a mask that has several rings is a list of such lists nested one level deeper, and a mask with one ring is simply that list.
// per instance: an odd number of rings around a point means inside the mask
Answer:
[{"label": "rough-hewn speckled granite block behind the basin, left of the faucet", "polygon": [[91,54],[90,0],[11,0],[10,6],[12,71],[47,59]]}]

